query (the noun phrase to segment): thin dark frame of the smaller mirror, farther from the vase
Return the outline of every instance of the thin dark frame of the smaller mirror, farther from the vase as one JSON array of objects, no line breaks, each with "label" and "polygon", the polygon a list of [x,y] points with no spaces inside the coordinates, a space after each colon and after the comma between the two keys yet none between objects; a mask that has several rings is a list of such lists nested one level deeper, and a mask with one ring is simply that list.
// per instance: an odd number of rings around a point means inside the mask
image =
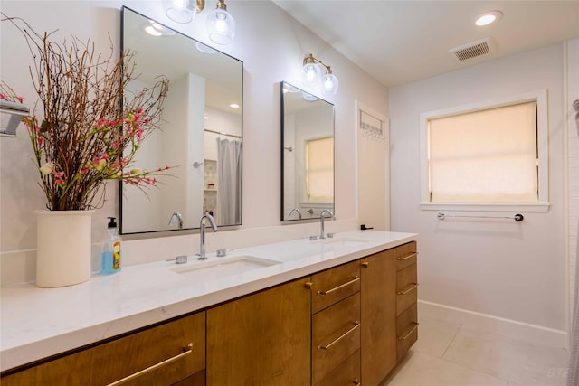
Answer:
[{"label": "thin dark frame of the smaller mirror, farther from the vase", "polygon": [[[332,159],[332,164],[333,164],[333,174],[334,174],[334,179],[333,179],[333,186],[332,186],[332,193],[333,193],[333,200],[331,202],[331,208],[330,210],[334,213],[334,216],[336,216],[336,111],[335,111],[335,106],[333,103],[328,102],[325,99],[320,99],[318,98],[318,96],[315,96],[313,94],[308,93],[308,91],[305,91],[303,89],[299,89],[299,87],[294,86],[293,84],[290,84],[287,81],[281,81],[280,82],[280,221],[282,222],[295,222],[295,221],[318,221],[319,217],[308,217],[308,218],[303,218],[303,214],[302,214],[302,218],[301,219],[289,219],[286,218],[285,216],[285,208],[284,208],[284,204],[285,204],[285,144],[284,144],[284,137],[285,137],[285,113],[286,113],[286,106],[285,106],[285,102],[286,102],[286,98],[285,98],[285,92],[284,89],[286,87],[289,87],[291,89],[296,89],[298,92],[301,92],[302,95],[305,96],[309,96],[310,98],[314,99],[315,101],[322,101],[327,103],[328,106],[330,106],[332,108],[332,137],[334,138],[334,155],[333,155],[333,159]],[[320,202],[321,203],[321,202]],[[319,204],[319,203],[318,203]],[[313,205],[316,206],[316,205]],[[326,209],[326,208],[325,208]],[[313,214],[313,213],[312,213]]]}]

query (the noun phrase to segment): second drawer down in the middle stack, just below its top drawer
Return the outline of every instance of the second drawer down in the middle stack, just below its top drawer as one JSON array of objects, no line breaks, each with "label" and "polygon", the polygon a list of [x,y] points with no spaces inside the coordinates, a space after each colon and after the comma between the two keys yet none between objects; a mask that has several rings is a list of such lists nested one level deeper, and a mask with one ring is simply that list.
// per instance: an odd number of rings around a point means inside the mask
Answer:
[{"label": "second drawer down in the middle stack, just below its top drawer", "polygon": [[360,348],[359,327],[359,293],[312,316],[313,384]]}]

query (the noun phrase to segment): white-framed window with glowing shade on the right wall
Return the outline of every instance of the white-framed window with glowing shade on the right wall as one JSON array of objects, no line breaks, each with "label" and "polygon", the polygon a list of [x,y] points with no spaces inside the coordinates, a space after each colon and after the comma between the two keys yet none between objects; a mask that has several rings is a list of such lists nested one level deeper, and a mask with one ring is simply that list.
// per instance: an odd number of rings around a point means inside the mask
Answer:
[{"label": "white-framed window with glowing shade on the right wall", "polygon": [[546,210],[545,104],[546,92],[422,114],[422,209]]}]

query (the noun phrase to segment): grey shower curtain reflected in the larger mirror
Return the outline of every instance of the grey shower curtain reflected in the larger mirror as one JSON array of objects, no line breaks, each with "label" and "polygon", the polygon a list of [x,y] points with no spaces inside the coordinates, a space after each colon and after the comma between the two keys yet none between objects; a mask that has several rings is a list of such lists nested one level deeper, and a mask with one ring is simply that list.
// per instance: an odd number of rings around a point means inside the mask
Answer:
[{"label": "grey shower curtain reflected in the larger mirror", "polygon": [[242,222],[242,143],[217,138],[217,224]]}]

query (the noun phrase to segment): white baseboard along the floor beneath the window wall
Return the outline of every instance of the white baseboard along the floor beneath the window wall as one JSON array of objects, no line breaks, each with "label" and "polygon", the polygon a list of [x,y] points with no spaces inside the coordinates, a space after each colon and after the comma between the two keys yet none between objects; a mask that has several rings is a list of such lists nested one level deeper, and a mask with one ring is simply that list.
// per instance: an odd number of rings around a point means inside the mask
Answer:
[{"label": "white baseboard along the floor beneath the window wall", "polygon": [[569,349],[566,331],[555,330],[541,325],[530,325],[516,320],[481,314],[462,308],[445,306],[425,300],[418,301],[419,319],[422,316],[458,322],[465,327],[525,339],[537,344]]}]

